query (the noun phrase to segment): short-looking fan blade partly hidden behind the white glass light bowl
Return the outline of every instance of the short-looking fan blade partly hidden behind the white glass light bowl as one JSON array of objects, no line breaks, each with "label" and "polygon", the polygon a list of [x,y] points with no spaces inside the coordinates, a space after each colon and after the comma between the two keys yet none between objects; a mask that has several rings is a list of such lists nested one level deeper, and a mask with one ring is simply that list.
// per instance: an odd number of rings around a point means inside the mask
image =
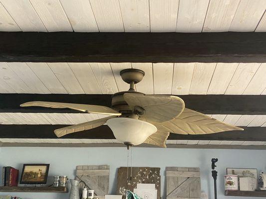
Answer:
[{"label": "short-looking fan blade partly hidden behind the white glass light bowl", "polygon": [[144,143],[166,148],[165,143],[169,134],[169,132],[157,130],[157,132],[149,136]]}]

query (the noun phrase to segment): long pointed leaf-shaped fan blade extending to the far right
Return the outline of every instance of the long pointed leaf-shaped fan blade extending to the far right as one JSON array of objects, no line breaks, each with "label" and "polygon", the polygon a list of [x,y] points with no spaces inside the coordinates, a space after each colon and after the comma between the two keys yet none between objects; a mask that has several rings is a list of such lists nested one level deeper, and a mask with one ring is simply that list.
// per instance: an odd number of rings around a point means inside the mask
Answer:
[{"label": "long pointed leaf-shaped fan blade extending to the far right", "polygon": [[158,130],[177,134],[208,134],[231,130],[244,130],[243,128],[226,124],[188,108],[185,108],[181,115],[172,121],[162,123],[147,122],[154,124]]}]

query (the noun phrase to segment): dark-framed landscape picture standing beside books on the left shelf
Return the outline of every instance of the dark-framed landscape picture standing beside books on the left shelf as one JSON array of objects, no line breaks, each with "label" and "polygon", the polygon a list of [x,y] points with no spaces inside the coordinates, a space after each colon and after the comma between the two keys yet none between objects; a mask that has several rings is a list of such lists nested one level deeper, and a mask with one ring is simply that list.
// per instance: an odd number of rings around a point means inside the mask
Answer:
[{"label": "dark-framed landscape picture standing beside books on the left shelf", "polygon": [[23,164],[20,184],[46,184],[49,164]]}]

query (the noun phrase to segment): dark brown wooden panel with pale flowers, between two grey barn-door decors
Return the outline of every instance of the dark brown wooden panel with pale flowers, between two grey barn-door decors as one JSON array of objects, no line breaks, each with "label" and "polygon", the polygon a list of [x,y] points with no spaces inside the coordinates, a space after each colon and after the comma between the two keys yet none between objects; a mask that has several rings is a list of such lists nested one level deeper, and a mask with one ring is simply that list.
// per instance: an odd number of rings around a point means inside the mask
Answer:
[{"label": "dark brown wooden panel with pale flowers, between two grey barn-door decors", "polygon": [[[131,173],[129,168],[129,175]],[[137,184],[155,184],[157,190],[157,199],[161,199],[161,176],[160,168],[153,167],[132,167],[132,180],[127,183],[127,167],[118,168],[117,174],[117,194],[123,194],[127,189],[131,192],[137,188]]]}]

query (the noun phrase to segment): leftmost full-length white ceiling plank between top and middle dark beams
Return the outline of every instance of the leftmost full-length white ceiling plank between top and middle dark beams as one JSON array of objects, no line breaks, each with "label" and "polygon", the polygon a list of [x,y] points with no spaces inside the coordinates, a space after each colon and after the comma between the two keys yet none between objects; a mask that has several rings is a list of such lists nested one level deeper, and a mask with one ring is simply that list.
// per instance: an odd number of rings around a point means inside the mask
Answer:
[{"label": "leftmost full-length white ceiling plank between top and middle dark beams", "polygon": [[40,79],[33,73],[26,63],[8,62],[9,68],[36,94],[50,94]]}]

